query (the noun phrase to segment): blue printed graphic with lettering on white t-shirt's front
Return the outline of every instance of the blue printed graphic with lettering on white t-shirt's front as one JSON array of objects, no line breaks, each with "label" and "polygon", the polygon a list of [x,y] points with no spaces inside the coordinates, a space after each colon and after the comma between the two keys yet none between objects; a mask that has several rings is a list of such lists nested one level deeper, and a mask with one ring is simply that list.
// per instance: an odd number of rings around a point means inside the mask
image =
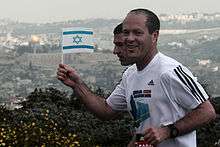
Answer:
[{"label": "blue printed graphic with lettering on white t-shirt's front", "polygon": [[147,99],[150,98],[151,90],[135,90],[131,95],[131,114],[135,120],[136,127],[150,117],[149,104],[147,103]]}]

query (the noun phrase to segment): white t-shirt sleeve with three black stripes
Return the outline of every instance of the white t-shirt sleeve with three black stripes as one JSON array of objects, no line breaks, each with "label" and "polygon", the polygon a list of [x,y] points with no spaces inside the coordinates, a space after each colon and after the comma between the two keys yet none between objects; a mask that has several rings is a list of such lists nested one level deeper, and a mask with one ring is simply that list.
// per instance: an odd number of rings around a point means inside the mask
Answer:
[{"label": "white t-shirt sleeve with three black stripes", "polygon": [[197,78],[180,65],[163,73],[161,84],[166,95],[187,110],[196,108],[209,98]]}]

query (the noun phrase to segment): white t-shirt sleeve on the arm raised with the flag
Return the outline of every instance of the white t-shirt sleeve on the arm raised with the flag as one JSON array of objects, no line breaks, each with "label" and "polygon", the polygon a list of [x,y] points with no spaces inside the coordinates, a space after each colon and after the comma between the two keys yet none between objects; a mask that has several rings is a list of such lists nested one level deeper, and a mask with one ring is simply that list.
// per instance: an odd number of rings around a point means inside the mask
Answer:
[{"label": "white t-shirt sleeve on the arm raised with the flag", "polygon": [[107,104],[116,111],[127,111],[127,102],[125,96],[125,76],[115,87],[114,91],[106,100]]}]

